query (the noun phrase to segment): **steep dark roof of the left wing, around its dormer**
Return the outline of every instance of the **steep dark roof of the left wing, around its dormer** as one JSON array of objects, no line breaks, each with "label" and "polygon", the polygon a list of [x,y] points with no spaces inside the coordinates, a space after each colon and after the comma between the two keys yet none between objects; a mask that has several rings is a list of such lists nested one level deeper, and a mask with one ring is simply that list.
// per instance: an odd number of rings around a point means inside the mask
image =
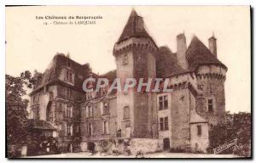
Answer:
[{"label": "steep dark roof of the left wing, around its dormer", "polygon": [[[64,54],[59,53],[55,55],[43,74],[38,73],[38,82],[36,83],[35,89],[32,90],[32,93],[37,92],[47,85],[62,84],[69,86],[66,82],[62,82],[58,78],[61,74],[62,67],[67,67],[67,60],[71,62],[75,73],[73,88],[77,91],[82,91],[84,79],[89,76],[90,65],[80,65],[72,59],[67,58]],[[80,79],[79,76],[82,76],[82,79]]]}]

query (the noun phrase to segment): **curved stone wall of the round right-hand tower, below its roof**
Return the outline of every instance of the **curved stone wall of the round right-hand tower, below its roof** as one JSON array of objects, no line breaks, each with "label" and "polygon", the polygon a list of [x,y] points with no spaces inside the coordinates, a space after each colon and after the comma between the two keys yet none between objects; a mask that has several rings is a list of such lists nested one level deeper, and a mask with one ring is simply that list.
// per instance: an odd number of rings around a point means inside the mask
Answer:
[{"label": "curved stone wall of the round right-hand tower, below its roof", "polygon": [[[202,89],[196,99],[196,111],[212,125],[225,121],[224,73],[217,66],[202,66],[197,74],[197,84]],[[208,111],[208,98],[213,100],[213,112]]]}]

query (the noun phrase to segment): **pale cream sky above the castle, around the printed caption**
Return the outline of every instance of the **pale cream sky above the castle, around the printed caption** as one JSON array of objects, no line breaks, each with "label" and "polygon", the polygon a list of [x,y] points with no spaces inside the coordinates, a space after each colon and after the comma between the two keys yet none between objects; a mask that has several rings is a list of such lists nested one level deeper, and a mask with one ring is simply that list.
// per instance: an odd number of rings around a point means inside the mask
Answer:
[{"label": "pale cream sky above the castle, around the printed caption", "polygon": [[[6,74],[24,70],[44,72],[55,53],[69,53],[93,72],[116,68],[113,45],[134,8],[154,42],[176,52],[176,36],[194,35],[208,46],[217,38],[218,59],[228,67],[226,110],[251,111],[251,42],[249,6],[38,6],[6,8]],[[94,25],[53,25],[36,16],[97,16]],[[60,20],[69,21],[69,20]],[[45,22],[48,25],[45,25]]]}]

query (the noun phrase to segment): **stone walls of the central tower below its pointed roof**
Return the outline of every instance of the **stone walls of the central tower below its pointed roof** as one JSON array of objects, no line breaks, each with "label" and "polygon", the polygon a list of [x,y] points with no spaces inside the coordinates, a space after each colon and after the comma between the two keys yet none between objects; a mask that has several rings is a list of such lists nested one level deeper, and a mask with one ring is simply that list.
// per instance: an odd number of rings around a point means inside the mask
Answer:
[{"label": "stone walls of the central tower below its pointed roof", "polygon": [[[145,82],[148,77],[154,78],[156,48],[152,48],[150,39],[128,39],[116,44],[114,55],[116,57],[117,77],[121,83],[126,78],[133,77],[139,81],[143,78]],[[127,55],[127,64],[124,65],[123,58]],[[153,132],[156,137],[157,110],[154,107],[155,94],[137,93],[137,89],[130,89],[127,93],[117,93],[118,128],[122,131],[122,137],[127,137],[126,127],[131,127],[132,138],[152,138]],[[123,109],[130,108],[130,118],[124,120]],[[154,126],[154,131],[152,129]],[[128,136],[129,137],[129,136]]]}]

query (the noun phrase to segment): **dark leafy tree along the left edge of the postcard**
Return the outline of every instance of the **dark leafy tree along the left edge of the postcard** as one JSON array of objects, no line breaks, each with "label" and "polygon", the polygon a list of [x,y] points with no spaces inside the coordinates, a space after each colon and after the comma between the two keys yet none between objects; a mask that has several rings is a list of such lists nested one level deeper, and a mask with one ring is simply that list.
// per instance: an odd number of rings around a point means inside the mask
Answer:
[{"label": "dark leafy tree along the left edge of the postcard", "polygon": [[19,146],[24,143],[28,132],[27,104],[28,100],[23,98],[26,95],[26,87],[32,88],[34,81],[30,71],[22,72],[20,76],[5,75],[5,108],[6,108],[6,129],[8,156],[12,146]]}]

